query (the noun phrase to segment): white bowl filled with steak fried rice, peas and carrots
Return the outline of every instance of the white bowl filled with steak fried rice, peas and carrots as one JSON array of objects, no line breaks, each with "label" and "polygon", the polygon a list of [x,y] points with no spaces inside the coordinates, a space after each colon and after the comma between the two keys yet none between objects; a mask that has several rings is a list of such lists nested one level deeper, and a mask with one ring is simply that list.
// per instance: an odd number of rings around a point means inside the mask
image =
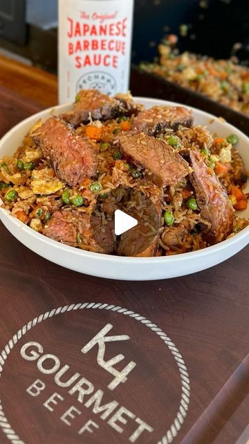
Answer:
[{"label": "white bowl filled with steak fried rice, peas and carrots", "polygon": [[[248,170],[248,137],[219,117],[82,91],[1,139],[0,219],[30,250],[71,270],[176,278],[248,245]],[[121,235],[118,208],[138,219]]]}]

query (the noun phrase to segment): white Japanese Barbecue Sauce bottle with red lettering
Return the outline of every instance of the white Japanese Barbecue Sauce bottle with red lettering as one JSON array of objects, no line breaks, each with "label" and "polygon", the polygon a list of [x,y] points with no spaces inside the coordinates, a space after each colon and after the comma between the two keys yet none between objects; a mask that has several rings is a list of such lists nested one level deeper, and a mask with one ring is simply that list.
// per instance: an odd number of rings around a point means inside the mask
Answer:
[{"label": "white Japanese Barbecue Sauce bottle with red lettering", "polygon": [[59,0],[59,103],[127,92],[133,0]]}]

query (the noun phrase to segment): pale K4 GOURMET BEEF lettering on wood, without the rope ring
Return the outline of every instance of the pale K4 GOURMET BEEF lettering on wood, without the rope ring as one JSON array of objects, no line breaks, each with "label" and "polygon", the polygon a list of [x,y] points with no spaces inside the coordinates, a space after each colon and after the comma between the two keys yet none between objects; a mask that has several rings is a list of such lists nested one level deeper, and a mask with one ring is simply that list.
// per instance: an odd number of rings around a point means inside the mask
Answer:
[{"label": "pale K4 GOURMET BEEF lettering on wood, without the rope ring", "polygon": [[[86,354],[91,351],[91,349],[95,346],[98,346],[98,355],[97,362],[100,367],[106,370],[113,376],[113,379],[108,384],[109,390],[113,391],[119,384],[124,384],[127,382],[127,377],[136,367],[136,362],[129,361],[122,370],[116,369],[116,364],[120,361],[124,361],[125,357],[121,353],[112,357],[111,359],[105,361],[104,355],[106,350],[106,343],[116,342],[116,341],[128,341],[130,337],[127,334],[118,334],[113,336],[107,336],[107,334],[112,330],[113,325],[107,324],[105,325],[98,334],[96,334],[89,343],[86,343],[81,349],[83,354]],[[25,343],[20,350],[21,357],[26,361],[37,361],[37,368],[43,375],[55,375],[55,384],[60,388],[68,389],[68,393],[70,395],[77,394],[77,400],[80,403],[84,403],[86,408],[91,408],[93,413],[101,413],[100,418],[102,420],[107,420],[109,426],[115,429],[117,432],[122,433],[123,429],[118,425],[118,422],[122,424],[127,423],[127,418],[131,418],[136,422],[136,429],[129,436],[130,443],[136,443],[138,438],[144,434],[145,432],[151,433],[153,432],[153,427],[147,424],[141,418],[138,418],[136,414],[132,413],[124,406],[118,407],[118,402],[113,400],[111,402],[107,402],[103,404],[104,392],[100,389],[95,390],[93,384],[86,379],[85,377],[81,377],[80,373],[75,373],[73,376],[69,377],[66,381],[66,373],[68,373],[69,366],[68,364],[61,366],[61,362],[59,358],[50,353],[44,353],[44,348],[41,343],[36,341],[28,341]],[[45,368],[44,364],[46,361],[52,361],[52,366],[50,368]],[[63,382],[62,382],[62,379]],[[33,397],[39,397],[39,394],[42,393],[46,389],[46,382],[44,379],[37,378],[35,381],[26,388],[26,392]],[[86,402],[84,402],[84,398],[86,395],[90,395],[90,398]],[[48,411],[53,412],[55,406],[58,402],[63,402],[64,396],[61,393],[55,391],[49,398],[43,403],[44,407],[48,409]],[[115,411],[115,413],[113,413]],[[71,426],[72,420],[76,415],[81,415],[82,411],[72,405],[69,407],[63,415],[60,417],[60,420],[64,422],[66,425]],[[99,425],[95,420],[88,420],[82,427],[78,430],[78,434],[81,435],[84,432],[92,433],[94,429],[98,429]]]}]

